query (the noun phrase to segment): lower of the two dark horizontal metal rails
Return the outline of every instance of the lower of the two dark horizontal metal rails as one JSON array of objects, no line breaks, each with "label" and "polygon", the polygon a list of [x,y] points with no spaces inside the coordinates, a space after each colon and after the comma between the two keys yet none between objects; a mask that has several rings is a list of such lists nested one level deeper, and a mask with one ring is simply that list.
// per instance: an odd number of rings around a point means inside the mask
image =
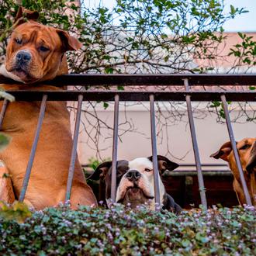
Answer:
[{"label": "lower of the two dark horizontal metal rails", "polygon": [[118,93],[119,101],[127,102],[147,102],[150,95],[154,95],[154,101],[185,101],[185,95],[191,95],[191,101],[209,102],[220,101],[221,95],[226,95],[227,101],[254,102],[256,100],[256,91],[251,92],[127,92],[127,91],[6,91],[12,94],[16,101],[40,101],[47,93],[49,101],[76,101],[78,95],[83,95],[87,101],[115,101],[115,95]]}]

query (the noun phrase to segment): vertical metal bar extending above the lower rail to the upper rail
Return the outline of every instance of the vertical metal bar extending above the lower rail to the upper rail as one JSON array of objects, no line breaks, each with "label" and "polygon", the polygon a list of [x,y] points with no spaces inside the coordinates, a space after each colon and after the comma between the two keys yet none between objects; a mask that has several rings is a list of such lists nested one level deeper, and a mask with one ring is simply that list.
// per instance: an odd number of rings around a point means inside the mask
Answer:
[{"label": "vertical metal bar extending above the lower rail to the upper rail", "polygon": [[[187,78],[184,79],[184,85],[185,85],[186,91],[189,91],[189,80]],[[193,119],[192,105],[191,105],[190,98],[191,98],[190,95],[185,95],[185,101],[187,103],[187,109],[188,109],[188,115],[189,115],[190,133],[191,133],[191,137],[192,137],[192,144],[193,144],[193,150],[194,150],[194,156],[195,156],[197,178],[199,181],[200,198],[201,198],[202,206],[205,206],[207,208],[206,189],[205,189],[205,185],[204,185],[203,177],[202,177],[202,168],[201,168],[201,161],[200,161],[200,156],[199,156],[199,147],[198,147],[197,139],[196,139],[195,123],[194,123],[194,119]]]}]

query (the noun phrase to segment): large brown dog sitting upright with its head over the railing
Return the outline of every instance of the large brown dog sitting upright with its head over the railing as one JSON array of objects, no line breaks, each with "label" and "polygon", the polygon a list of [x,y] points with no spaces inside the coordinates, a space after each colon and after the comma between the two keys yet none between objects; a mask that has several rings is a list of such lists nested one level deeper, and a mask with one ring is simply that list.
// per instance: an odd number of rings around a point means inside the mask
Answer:
[{"label": "large brown dog sitting upright with its head over the railing", "polygon": [[[35,15],[34,12],[30,14]],[[22,23],[22,18],[18,17],[18,19],[19,24],[14,29],[7,47],[2,74],[29,85],[1,85],[1,88],[58,90],[57,87],[43,85],[42,81],[67,74],[64,53],[67,50],[78,50],[81,43],[61,29],[43,26],[32,20]],[[40,102],[12,102],[2,124],[2,131],[12,137],[12,142],[2,152],[1,159],[11,175],[16,199],[19,198],[22,189],[39,110]],[[70,117],[66,102],[47,102],[24,200],[28,206],[43,209],[64,201],[71,148]],[[78,204],[88,206],[96,205],[97,202],[92,189],[86,184],[77,160],[71,189],[71,206],[76,208]]]}]

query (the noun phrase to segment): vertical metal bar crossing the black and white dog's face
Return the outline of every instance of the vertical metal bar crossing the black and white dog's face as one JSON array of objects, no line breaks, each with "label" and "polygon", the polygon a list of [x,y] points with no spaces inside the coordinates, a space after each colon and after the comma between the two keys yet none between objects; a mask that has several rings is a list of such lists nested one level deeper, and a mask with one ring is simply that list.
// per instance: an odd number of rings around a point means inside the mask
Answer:
[{"label": "vertical metal bar crossing the black and white dog's face", "polygon": [[[159,171],[157,162],[157,133],[154,116],[154,95],[150,95],[150,127],[151,127],[151,146],[152,146],[152,161],[154,171],[154,202],[156,202],[155,209],[160,210],[160,189],[159,189]],[[157,207],[158,205],[158,207]]]}]

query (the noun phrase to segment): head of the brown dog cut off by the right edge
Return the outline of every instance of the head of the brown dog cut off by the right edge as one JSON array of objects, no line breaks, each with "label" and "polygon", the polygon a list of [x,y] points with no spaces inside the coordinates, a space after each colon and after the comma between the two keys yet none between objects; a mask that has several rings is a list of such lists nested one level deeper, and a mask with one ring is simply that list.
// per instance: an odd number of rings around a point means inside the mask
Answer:
[{"label": "head of the brown dog cut off by the right edge", "polygon": [[[249,173],[251,171],[256,171],[256,138],[245,138],[244,140],[240,140],[237,142],[237,150],[243,170]],[[237,168],[230,141],[223,144],[220,147],[220,150],[211,154],[210,157],[216,159],[221,158],[224,161],[229,162],[232,170]]]}]

